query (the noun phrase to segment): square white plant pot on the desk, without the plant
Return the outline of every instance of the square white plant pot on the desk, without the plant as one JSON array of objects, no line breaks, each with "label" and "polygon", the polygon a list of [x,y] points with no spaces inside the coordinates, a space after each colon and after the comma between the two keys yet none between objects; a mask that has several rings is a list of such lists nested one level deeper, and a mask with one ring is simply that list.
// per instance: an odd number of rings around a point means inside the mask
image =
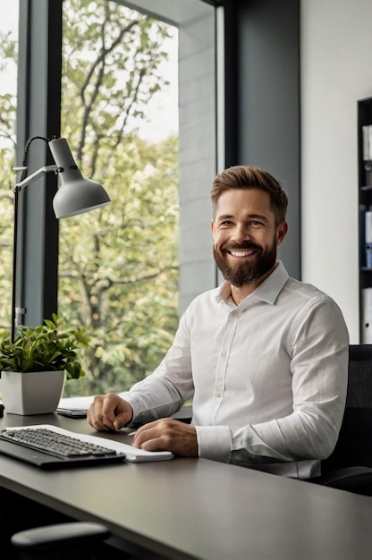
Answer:
[{"label": "square white plant pot on the desk, without the plant", "polygon": [[64,379],[64,371],[2,371],[0,393],[5,411],[22,415],[55,412]]}]

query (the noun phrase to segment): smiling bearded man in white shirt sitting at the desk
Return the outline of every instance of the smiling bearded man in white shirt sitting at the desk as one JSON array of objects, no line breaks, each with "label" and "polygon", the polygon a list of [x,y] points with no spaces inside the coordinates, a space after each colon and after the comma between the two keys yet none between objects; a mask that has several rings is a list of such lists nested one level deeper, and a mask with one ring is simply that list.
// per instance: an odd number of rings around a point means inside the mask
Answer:
[{"label": "smiling bearded man in white shirt sitting at the desk", "polygon": [[[191,302],[156,371],[129,392],[96,396],[88,421],[101,430],[143,422],[133,444],[149,451],[264,469],[295,462],[308,478],[331,454],[342,422],[349,349],[342,312],[277,261],[288,199],[271,174],[230,167],[211,196],[224,284]],[[190,397],[191,424],[169,418]]]}]

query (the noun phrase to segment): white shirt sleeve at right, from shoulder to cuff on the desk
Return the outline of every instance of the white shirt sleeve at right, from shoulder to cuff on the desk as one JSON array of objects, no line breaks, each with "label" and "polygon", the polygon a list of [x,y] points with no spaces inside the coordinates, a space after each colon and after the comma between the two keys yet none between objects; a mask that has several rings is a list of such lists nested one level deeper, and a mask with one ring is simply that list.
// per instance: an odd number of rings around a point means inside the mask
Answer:
[{"label": "white shirt sleeve at right, from shoulder to cuff on the desk", "polygon": [[292,414],[241,428],[197,427],[199,456],[249,465],[321,460],[332,453],[346,401],[349,355],[348,332],[334,301],[299,310],[291,340]]}]

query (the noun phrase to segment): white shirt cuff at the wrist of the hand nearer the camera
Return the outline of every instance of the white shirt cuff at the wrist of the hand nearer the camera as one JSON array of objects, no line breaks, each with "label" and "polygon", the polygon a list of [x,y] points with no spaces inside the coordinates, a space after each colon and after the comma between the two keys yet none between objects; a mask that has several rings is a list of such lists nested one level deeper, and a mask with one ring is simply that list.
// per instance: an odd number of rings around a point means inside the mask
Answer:
[{"label": "white shirt cuff at the wrist of the hand nearer the camera", "polygon": [[195,426],[199,457],[212,461],[229,462],[232,436],[228,426]]}]

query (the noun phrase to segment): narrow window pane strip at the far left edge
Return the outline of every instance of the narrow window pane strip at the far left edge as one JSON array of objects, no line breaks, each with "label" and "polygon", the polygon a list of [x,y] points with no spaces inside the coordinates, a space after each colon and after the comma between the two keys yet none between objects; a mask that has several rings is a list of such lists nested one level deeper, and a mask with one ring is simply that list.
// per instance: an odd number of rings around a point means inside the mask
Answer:
[{"label": "narrow window pane strip at the far left edge", "polygon": [[11,329],[18,2],[0,0],[0,328]]}]

